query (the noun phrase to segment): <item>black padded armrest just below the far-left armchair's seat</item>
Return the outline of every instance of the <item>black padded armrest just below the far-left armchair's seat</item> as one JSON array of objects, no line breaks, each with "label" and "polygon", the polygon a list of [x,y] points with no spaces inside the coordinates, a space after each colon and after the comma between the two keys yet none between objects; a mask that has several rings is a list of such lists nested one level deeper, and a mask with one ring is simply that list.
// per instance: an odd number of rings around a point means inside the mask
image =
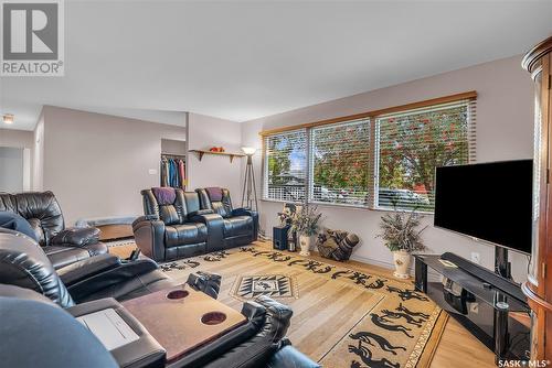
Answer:
[{"label": "black padded armrest just below the far-left armchair's seat", "polygon": [[57,270],[65,286],[71,286],[79,281],[107,271],[120,264],[120,259],[112,255],[91,257]]}]

